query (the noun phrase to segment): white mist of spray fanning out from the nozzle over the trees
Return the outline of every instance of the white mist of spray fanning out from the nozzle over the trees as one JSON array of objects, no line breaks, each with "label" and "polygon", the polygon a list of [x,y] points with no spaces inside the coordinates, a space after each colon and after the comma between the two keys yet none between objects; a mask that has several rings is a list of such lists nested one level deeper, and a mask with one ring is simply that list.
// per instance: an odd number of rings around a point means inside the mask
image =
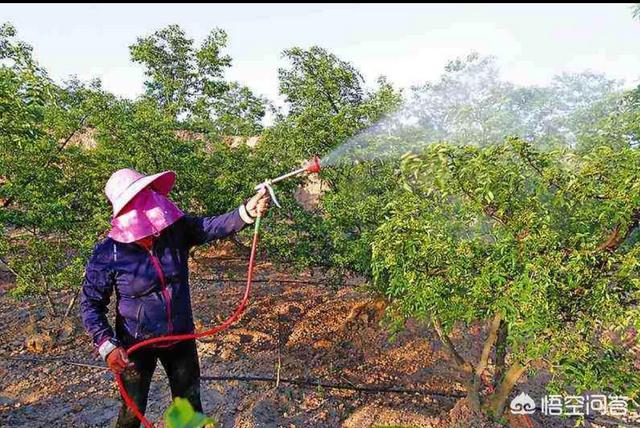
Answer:
[{"label": "white mist of spray fanning out from the nozzle over the trees", "polygon": [[334,148],[323,166],[387,162],[446,142],[487,147],[517,136],[546,150],[575,147],[593,123],[620,106],[622,82],[592,72],[563,73],[545,86],[501,78],[494,57],[451,61],[439,79],[412,87],[394,111]]}]

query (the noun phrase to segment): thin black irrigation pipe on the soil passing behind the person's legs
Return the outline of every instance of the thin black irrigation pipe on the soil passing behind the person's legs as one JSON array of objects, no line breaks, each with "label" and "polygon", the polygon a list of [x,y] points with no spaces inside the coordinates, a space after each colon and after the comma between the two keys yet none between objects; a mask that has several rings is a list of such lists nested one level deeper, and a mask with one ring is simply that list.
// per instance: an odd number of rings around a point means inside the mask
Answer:
[{"label": "thin black irrigation pipe on the soil passing behind the person's legs", "polygon": [[[108,370],[107,367],[103,365],[97,364],[89,364],[78,361],[69,361],[65,357],[13,357],[8,356],[5,357],[14,361],[26,361],[26,362],[51,362],[51,361],[60,361],[67,365],[72,366],[80,366],[80,367],[89,367],[93,369],[99,370]],[[203,381],[211,381],[211,382],[270,382],[276,383],[277,379],[273,376],[201,376],[201,380]],[[291,385],[297,385],[302,387],[322,387],[328,389],[341,389],[348,391],[358,391],[358,392],[367,392],[367,393],[389,393],[389,394],[420,394],[420,395],[431,395],[437,397],[446,397],[446,398],[463,398],[466,396],[464,393],[460,392],[442,392],[442,391],[433,391],[428,389],[411,389],[411,388],[396,388],[396,387],[386,387],[386,386],[359,386],[359,385],[347,385],[340,383],[331,383],[331,382],[323,382],[316,379],[280,379],[281,383],[288,383]]]}]

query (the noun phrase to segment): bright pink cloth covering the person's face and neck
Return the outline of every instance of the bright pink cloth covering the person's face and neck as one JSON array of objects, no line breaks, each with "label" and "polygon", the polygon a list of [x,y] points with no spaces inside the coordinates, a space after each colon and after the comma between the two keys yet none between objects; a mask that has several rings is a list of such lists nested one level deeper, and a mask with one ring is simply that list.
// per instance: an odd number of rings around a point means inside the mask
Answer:
[{"label": "bright pink cloth covering the person's face and neck", "polygon": [[169,198],[147,187],[111,220],[109,237],[129,243],[147,236],[157,236],[183,215]]}]

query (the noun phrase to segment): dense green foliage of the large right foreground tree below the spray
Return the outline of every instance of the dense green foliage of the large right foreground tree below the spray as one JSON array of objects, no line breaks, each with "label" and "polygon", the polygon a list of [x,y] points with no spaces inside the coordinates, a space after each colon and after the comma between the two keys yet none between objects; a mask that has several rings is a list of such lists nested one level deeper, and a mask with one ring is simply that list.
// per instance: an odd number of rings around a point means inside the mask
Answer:
[{"label": "dense green foliage of the large right foreground tree below the spray", "polygon": [[498,313],[512,361],[638,396],[622,341],[640,327],[640,152],[437,144],[407,155],[403,173],[408,191],[372,244],[375,284],[398,314],[448,330]]}]

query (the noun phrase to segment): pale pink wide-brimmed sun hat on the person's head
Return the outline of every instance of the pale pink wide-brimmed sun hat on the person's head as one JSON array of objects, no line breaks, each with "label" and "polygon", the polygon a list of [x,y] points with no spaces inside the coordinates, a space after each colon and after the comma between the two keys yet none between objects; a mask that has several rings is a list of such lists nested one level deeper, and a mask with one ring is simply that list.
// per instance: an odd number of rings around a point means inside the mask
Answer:
[{"label": "pale pink wide-brimmed sun hat on the person's head", "polygon": [[116,217],[125,205],[147,186],[166,196],[175,182],[176,173],[174,171],[163,171],[146,176],[134,169],[124,168],[111,175],[104,187],[104,193],[109,198],[113,206],[113,216]]}]

